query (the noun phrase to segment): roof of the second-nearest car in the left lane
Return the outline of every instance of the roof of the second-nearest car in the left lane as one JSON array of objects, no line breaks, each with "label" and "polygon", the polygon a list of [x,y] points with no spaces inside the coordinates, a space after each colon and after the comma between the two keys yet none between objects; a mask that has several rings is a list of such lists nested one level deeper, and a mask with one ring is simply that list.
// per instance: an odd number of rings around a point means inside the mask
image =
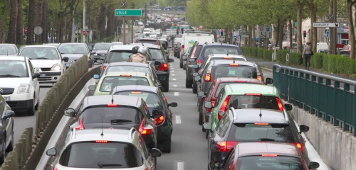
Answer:
[{"label": "roof of the second-nearest car in the left lane", "polygon": [[[113,102],[112,102],[113,100]],[[119,95],[97,95],[97,96],[87,96],[83,99],[83,108],[88,106],[99,106],[106,105],[108,103],[115,103],[117,105],[133,106],[140,108],[142,105],[142,98],[136,96],[122,96]]]}]

